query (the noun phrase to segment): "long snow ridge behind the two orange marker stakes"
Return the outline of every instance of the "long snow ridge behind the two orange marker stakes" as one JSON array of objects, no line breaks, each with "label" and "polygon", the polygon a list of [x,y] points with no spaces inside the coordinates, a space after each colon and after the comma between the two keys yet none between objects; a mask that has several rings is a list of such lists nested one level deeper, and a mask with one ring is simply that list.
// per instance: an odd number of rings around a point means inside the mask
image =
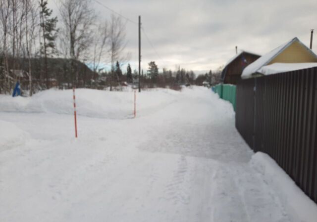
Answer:
[{"label": "long snow ridge behind the two orange marker stakes", "polygon": [[[0,95],[0,111],[27,113],[73,114],[72,90],[45,90],[32,97]],[[137,93],[137,115],[146,115],[172,103],[180,94],[171,89],[142,91]],[[133,116],[133,91],[103,91],[76,89],[78,115],[126,119]]]}]

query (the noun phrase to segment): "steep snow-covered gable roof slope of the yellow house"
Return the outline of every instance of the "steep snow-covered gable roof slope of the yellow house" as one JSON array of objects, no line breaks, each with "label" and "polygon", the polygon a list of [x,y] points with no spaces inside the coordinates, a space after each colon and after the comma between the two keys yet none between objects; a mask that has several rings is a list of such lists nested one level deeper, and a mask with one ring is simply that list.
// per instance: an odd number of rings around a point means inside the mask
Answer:
[{"label": "steep snow-covered gable roof slope of the yellow house", "polygon": [[[277,48],[273,49],[272,51],[266,53],[265,55],[258,58],[256,61],[248,65],[242,72],[241,78],[248,78],[254,73],[258,73],[259,69],[265,65],[267,65],[270,61],[272,61],[277,55],[279,55],[282,51],[284,51],[285,48],[287,48],[289,45],[293,44],[294,42],[298,42],[302,44],[308,51],[310,51],[313,55],[316,56],[316,54],[309,49],[305,44],[303,44],[297,37],[294,39],[288,41],[287,43],[284,43]],[[316,56],[317,58],[317,56]]]}]

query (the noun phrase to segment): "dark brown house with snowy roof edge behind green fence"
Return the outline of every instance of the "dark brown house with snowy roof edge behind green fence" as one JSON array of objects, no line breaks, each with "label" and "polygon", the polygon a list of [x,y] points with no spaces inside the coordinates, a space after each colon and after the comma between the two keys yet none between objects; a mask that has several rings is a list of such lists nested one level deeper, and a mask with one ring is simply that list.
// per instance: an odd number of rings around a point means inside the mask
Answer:
[{"label": "dark brown house with snowy roof edge behind green fence", "polygon": [[241,51],[232,57],[224,66],[221,80],[224,84],[236,85],[241,79],[242,71],[246,66],[260,58],[260,55],[247,51]]}]

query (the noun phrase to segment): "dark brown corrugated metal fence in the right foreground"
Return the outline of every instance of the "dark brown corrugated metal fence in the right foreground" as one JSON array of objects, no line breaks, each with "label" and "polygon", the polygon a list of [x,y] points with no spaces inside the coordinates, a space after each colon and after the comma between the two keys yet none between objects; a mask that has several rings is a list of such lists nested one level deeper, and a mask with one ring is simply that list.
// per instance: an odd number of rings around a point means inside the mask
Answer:
[{"label": "dark brown corrugated metal fence in the right foreground", "polygon": [[317,67],[241,80],[236,128],[317,203]]}]

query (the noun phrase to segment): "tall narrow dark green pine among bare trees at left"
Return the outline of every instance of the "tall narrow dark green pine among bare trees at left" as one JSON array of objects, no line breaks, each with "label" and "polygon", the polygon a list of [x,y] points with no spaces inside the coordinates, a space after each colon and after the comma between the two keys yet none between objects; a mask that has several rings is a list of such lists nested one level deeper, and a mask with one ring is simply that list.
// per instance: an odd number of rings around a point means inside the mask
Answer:
[{"label": "tall narrow dark green pine among bare trees at left", "polygon": [[45,57],[45,77],[46,85],[49,89],[49,74],[48,74],[48,56],[53,55],[55,51],[55,39],[58,29],[56,28],[57,17],[50,18],[53,10],[47,7],[48,1],[40,1],[40,26],[43,33],[43,44],[41,45],[41,53]]}]

